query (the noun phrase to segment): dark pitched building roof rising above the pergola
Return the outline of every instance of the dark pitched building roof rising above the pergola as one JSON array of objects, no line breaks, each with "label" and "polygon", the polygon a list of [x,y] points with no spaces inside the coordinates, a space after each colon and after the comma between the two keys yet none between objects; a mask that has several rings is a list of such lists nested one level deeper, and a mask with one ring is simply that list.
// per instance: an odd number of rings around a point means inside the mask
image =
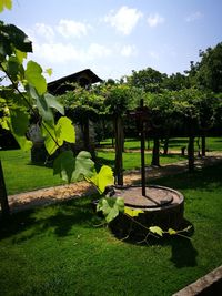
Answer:
[{"label": "dark pitched building roof rising above the pergola", "polygon": [[95,75],[90,69],[82,70],[68,76],[60,78],[48,83],[48,91],[52,94],[63,94],[67,91],[73,90],[70,83],[79,83],[81,86],[87,86],[102,80]]}]

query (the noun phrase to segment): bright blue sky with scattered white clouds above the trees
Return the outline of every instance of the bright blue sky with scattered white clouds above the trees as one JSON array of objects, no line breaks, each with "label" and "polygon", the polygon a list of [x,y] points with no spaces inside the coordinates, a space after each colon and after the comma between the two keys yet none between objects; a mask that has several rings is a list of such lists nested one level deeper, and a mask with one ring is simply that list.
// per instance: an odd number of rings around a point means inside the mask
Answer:
[{"label": "bright blue sky with scattered white clouds above the trees", "polygon": [[84,69],[103,80],[183,73],[222,42],[221,16],[222,0],[13,0],[0,19],[27,33],[50,82]]}]

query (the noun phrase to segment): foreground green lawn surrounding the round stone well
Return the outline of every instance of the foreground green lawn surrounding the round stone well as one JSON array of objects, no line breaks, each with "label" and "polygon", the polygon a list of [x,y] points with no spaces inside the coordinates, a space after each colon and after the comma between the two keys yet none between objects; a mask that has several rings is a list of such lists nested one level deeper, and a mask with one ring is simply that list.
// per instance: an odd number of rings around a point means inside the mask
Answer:
[{"label": "foreground green lawn surrounding the round stone well", "polygon": [[222,264],[221,173],[157,181],[184,194],[191,241],[120,242],[89,197],[14,214],[0,223],[0,295],[172,295]]}]

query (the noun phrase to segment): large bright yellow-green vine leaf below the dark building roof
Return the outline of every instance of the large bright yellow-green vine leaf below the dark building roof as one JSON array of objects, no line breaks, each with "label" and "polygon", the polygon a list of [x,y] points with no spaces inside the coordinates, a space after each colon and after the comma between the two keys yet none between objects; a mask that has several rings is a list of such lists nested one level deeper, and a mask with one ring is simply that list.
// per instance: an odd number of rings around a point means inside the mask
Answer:
[{"label": "large bright yellow-green vine leaf below the dark building roof", "polygon": [[62,116],[59,119],[56,126],[56,134],[59,144],[63,144],[63,141],[69,143],[75,142],[74,126],[72,125],[72,121],[67,116]]}]

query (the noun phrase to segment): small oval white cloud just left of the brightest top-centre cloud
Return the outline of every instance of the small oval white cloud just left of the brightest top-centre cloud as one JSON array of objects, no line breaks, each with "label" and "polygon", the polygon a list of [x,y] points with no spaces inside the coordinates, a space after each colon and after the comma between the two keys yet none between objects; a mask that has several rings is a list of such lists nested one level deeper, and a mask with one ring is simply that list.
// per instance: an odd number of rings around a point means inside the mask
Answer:
[{"label": "small oval white cloud just left of the brightest top-centre cloud", "polygon": [[87,23],[63,19],[57,25],[58,32],[64,38],[81,38],[82,35],[87,35],[90,29],[91,25]]}]

